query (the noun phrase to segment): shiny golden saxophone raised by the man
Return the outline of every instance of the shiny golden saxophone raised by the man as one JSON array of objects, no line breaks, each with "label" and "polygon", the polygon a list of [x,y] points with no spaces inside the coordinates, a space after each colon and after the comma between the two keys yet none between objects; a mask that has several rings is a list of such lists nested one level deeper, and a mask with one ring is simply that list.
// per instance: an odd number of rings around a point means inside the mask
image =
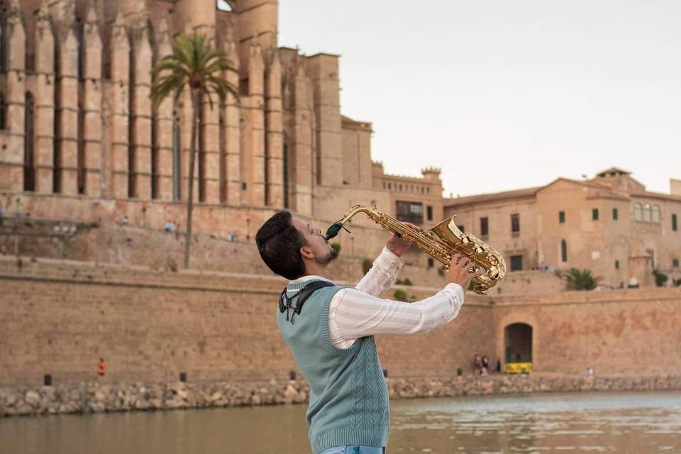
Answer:
[{"label": "shiny golden saxophone raised by the man", "polygon": [[454,217],[445,219],[428,231],[419,232],[405,226],[397,219],[381,213],[376,208],[359,204],[353,206],[345,213],[343,218],[331,224],[326,230],[326,240],[336,237],[341,228],[348,231],[343,224],[360,213],[366,214],[368,218],[391,231],[395,236],[414,243],[424,253],[441,262],[445,270],[449,269],[454,253],[465,255],[472,262],[475,262],[475,265],[485,270],[485,274],[474,277],[471,281],[473,292],[477,294],[487,294],[487,290],[494,287],[506,275],[506,263],[504,263],[502,255],[470,233],[460,231],[454,223]]}]

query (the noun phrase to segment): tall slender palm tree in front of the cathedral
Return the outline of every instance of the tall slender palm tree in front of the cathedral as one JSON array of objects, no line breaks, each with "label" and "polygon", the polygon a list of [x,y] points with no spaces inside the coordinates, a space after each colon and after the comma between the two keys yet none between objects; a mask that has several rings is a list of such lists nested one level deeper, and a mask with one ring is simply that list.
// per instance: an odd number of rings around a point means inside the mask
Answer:
[{"label": "tall slender palm tree in front of the cathedral", "polygon": [[196,129],[201,99],[208,99],[213,109],[213,94],[224,102],[228,93],[238,96],[236,87],[223,79],[224,71],[236,71],[220,49],[206,44],[206,35],[181,33],[172,44],[172,54],[162,57],[153,67],[155,80],[151,99],[156,109],[170,94],[175,101],[184,87],[192,99],[192,144],[189,155],[189,194],[187,194],[187,237],[184,240],[184,267],[189,268],[189,246],[192,244],[192,211],[194,209],[194,165],[196,162]]}]

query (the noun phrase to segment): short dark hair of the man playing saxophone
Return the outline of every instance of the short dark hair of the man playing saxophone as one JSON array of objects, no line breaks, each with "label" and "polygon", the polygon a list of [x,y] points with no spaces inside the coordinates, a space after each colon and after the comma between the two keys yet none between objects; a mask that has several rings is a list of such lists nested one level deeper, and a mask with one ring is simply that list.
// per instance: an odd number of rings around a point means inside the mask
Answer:
[{"label": "short dark hair of the man playing saxophone", "polygon": [[300,248],[305,238],[293,226],[291,211],[279,211],[262,224],[255,234],[258,252],[270,270],[289,280],[304,275],[305,264],[300,256]]}]

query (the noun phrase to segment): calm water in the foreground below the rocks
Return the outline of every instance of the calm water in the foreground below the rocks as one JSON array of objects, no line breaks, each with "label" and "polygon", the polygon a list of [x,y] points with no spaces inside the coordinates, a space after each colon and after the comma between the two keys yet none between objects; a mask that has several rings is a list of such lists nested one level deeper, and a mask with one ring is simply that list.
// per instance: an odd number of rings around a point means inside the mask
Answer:
[{"label": "calm water in the foreground below the rocks", "polygon": [[[390,404],[389,453],[681,453],[681,392]],[[0,419],[0,453],[309,453],[304,414],[298,405]]]}]

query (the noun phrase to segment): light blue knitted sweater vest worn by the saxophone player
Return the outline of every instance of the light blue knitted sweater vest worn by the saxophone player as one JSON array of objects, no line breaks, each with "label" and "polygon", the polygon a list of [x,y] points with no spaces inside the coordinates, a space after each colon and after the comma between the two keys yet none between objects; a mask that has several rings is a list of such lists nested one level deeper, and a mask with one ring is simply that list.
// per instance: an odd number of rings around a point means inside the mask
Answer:
[{"label": "light blue knitted sweater vest worn by the saxophone player", "polygon": [[[287,292],[309,282],[289,283]],[[310,386],[306,419],[314,454],[334,446],[385,446],[388,441],[388,389],[374,337],[360,338],[345,350],[329,339],[328,305],[341,288],[311,294],[293,323],[292,310],[287,321],[287,312],[277,308],[279,333]]]}]

